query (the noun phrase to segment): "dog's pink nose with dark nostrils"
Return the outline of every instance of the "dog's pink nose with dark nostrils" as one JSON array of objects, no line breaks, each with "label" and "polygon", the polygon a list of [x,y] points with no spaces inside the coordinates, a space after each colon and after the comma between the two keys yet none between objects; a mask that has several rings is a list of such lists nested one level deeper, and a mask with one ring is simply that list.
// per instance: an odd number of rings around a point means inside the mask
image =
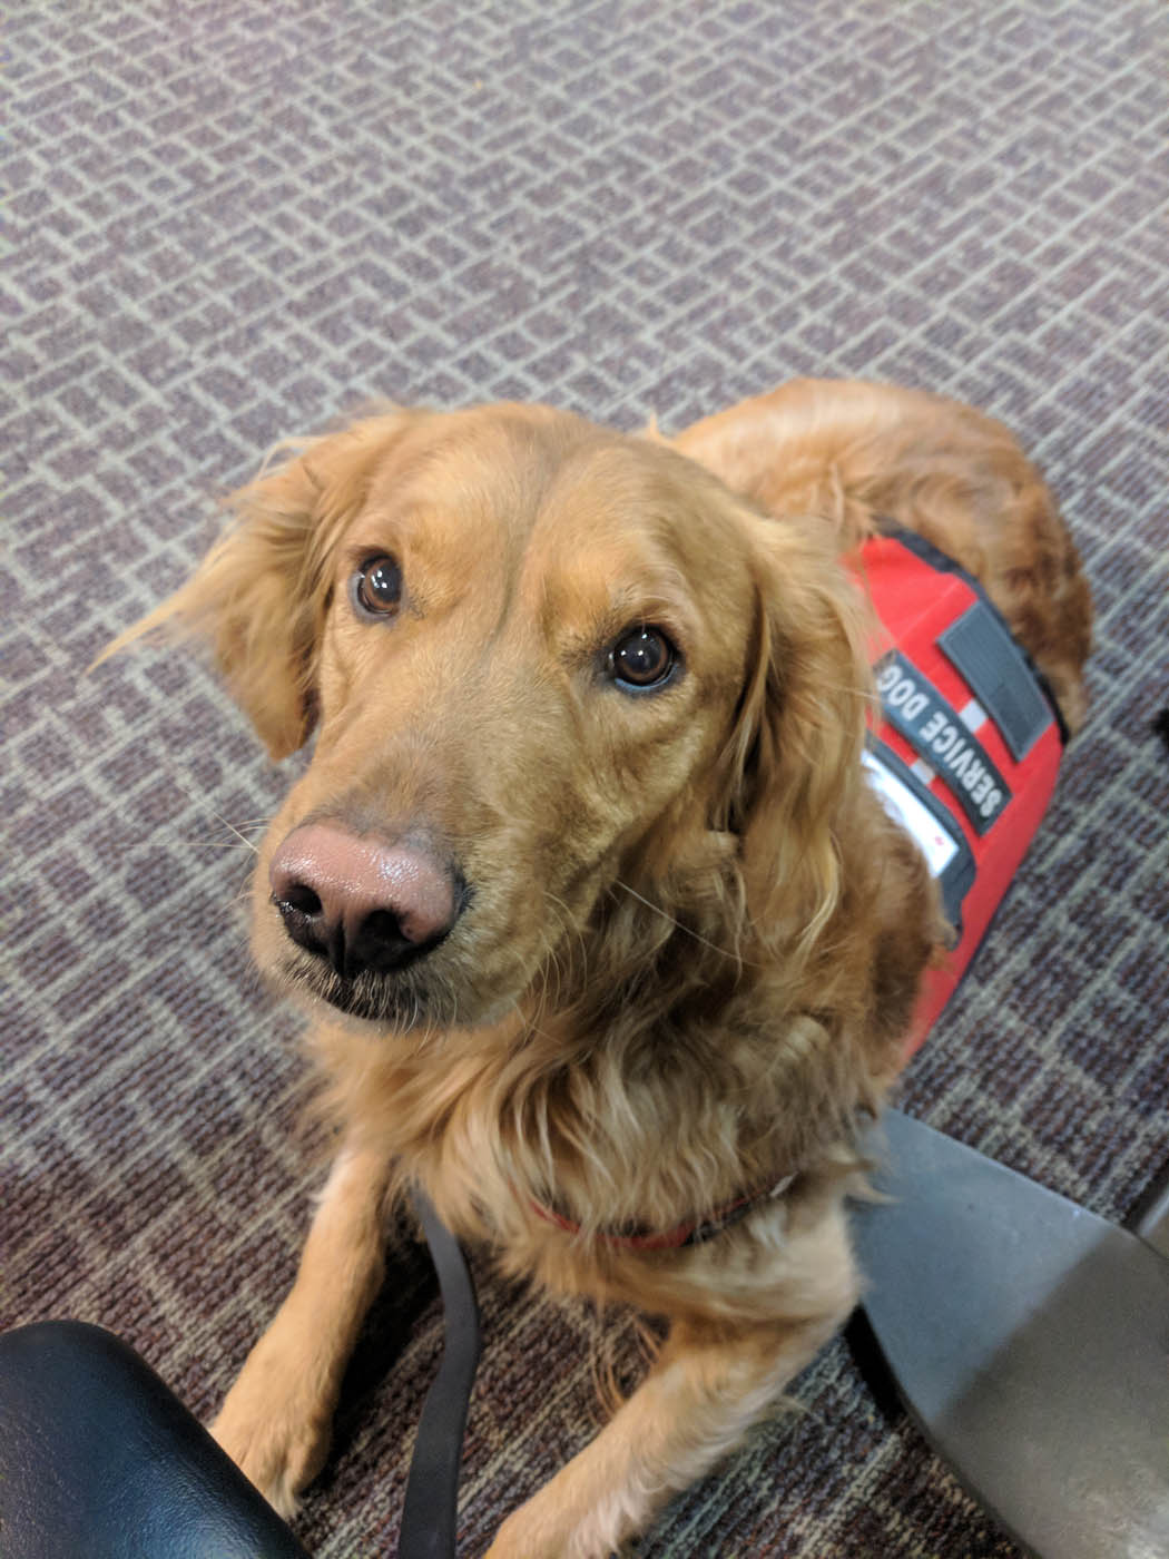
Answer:
[{"label": "dog's pink nose with dark nostrils", "polygon": [[298,946],[352,979],[429,953],[461,909],[455,876],[429,850],[341,823],[305,823],[276,850],[271,896]]}]

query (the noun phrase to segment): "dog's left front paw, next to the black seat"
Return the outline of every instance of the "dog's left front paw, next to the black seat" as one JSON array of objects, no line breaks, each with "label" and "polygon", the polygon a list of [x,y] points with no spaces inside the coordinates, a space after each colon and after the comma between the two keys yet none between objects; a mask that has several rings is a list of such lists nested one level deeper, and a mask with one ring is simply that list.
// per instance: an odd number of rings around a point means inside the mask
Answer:
[{"label": "dog's left front paw, next to the black seat", "polygon": [[332,1405],[279,1380],[259,1349],[210,1425],[212,1436],[285,1520],[329,1455]]}]

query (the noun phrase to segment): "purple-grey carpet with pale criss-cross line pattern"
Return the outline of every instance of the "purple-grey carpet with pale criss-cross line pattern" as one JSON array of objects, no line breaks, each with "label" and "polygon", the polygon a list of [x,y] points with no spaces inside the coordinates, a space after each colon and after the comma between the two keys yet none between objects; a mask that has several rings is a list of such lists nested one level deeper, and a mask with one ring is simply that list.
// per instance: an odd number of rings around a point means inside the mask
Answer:
[{"label": "purple-grey carpet with pale criss-cross line pattern", "polygon": [[[0,1320],[101,1322],[207,1414],[291,1278],[320,1166],[234,907],[287,773],[192,658],[83,672],[273,440],[379,393],[675,429],[864,374],[1018,429],[1086,557],[1094,708],[904,1098],[1124,1216],[1169,1157],[1161,0],[28,0],[6,56]],[[477,1275],[468,1556],[597,1422],[591,1319]],[[418,1253],[374,1320],[323,1559],[393,1547]],[[795,1395],[644,1559],[1015,1553],[843,1344]]]}]

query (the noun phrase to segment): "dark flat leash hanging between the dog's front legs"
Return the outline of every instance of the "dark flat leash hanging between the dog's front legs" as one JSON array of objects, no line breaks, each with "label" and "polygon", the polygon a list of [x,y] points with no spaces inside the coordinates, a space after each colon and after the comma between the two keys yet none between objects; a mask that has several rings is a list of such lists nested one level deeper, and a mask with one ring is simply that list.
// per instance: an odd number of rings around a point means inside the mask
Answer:
[{"label": "dark flat leash hanging between the dog's front legs", "polygon": [[480,1352],[479,1305],[461,1246],[426,1194],[415,1188],[413,1197],[438,1274],[446,1339],[418,1422],[397,1559],[455,1559],[458,1464]]}]

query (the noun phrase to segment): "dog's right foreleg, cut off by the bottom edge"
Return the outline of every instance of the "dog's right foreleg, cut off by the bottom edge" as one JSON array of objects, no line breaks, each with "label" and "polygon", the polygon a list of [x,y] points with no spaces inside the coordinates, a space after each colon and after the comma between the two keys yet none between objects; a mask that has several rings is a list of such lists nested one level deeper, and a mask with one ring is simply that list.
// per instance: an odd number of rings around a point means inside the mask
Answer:
[{"label": "dog's right foreleg, cut off by the bottom edge", "polygon": [[637,1391],[503,1522],[488,1559],[608,1559],[767,1416],[840,1320],[676,1324]]}]

